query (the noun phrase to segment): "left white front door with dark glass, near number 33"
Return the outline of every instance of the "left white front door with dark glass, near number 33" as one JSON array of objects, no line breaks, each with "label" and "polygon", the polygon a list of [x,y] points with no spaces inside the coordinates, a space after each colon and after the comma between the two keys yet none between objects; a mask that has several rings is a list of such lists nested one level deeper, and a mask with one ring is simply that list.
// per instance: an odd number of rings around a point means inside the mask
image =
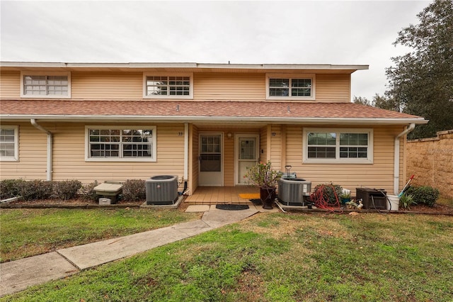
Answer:
[{"label": "left white front door with dark glass, near number 33", "polygon": [[200,134],[199,186],[223,186],[222,133]]}]

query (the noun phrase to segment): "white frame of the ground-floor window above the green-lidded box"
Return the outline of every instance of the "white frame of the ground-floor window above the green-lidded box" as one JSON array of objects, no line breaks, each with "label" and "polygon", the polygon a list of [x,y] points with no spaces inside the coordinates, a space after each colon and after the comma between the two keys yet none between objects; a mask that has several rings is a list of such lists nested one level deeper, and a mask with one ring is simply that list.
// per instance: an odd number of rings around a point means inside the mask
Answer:
[{"label": "white frame of the ground-floor window above the green-lidded box", "polygon": [[[90,157],[90,129],[115,129],[115,130],[129,130],[129,129],[149,129],[153,131],[151,157]],[[157,135],[155,125],[86,125],[85,126],[85,161],[86,162],[156,162],[157,161]],[[120,142],[121,145],[121,142]],[[120,151],[121,151],[120,147]],[[120,152],[120,156],[122,152]]]}]

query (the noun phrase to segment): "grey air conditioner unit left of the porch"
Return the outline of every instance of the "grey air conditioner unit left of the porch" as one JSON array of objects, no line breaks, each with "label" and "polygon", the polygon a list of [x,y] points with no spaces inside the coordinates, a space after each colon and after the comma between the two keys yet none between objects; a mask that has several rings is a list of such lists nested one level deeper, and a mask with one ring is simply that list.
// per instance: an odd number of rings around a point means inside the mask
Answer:
[{"label": "grey air conditioner unit left of the porch", "polygon": [[178,177],[157,175],[145,181],[147,204],[174,204],[178,200]]}]

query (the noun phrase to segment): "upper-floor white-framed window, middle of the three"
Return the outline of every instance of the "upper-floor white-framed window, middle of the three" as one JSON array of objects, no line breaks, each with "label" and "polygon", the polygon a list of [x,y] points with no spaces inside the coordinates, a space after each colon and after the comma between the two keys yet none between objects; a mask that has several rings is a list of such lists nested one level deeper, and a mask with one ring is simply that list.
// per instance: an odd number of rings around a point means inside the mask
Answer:
[{"label": "upper-floor white-framed window, middle of the three", "polygon": [[192,74],[144,74],[144,98],[192,99]]}]

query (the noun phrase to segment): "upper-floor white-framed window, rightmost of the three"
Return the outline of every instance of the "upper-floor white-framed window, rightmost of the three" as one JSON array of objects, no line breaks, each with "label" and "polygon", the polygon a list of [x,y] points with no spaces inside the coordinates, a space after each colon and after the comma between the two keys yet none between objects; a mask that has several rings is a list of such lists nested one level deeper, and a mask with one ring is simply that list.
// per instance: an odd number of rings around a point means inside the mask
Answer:
[{"label": "upper-floor white-framed window, rightmost of the three", "polygon": [[314,99],[314,74],[267,74],[266,99]]}]

